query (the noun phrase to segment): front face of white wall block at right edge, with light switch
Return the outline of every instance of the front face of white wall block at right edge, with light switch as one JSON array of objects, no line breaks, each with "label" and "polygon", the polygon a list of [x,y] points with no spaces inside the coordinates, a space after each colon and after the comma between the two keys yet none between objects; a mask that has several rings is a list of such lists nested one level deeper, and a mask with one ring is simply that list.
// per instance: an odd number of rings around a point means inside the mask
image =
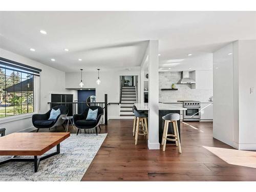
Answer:
[{"label": "front face of white wall block at right edge, with light switch", "polygon": [[239,79],[239,149],[256,150],[256,40],[234,43],[238,52]]}]

